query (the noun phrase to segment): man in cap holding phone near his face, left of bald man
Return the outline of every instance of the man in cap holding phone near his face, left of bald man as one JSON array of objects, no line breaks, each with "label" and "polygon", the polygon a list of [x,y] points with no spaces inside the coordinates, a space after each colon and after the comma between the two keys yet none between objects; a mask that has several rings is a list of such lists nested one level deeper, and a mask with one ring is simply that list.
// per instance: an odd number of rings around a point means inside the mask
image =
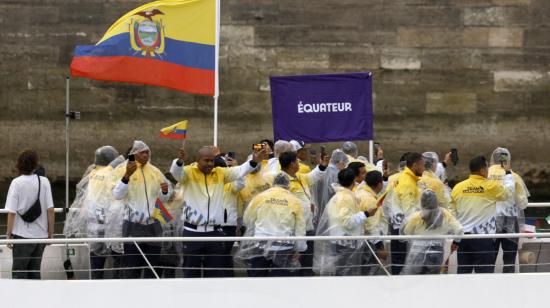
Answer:
[{"label": "man in cap holding phone near his face, left of bald man", "polygon": [[[168,202],[172,188],[164,174],[150,162],[151,150],[143,141],[136,140],[129,152],[128,160],[113,171],[115,181],[112,193],[115,200],[124,206],[122,236],[156,237],[162,236],[161,223],[154,218],[153,211],[157,200]],[[162,243],[140,243],[141,251],[149,262],[156,266]],[[141,278],[141,267],[147,267],[140,250],[134,243],[124,243],[122,265],[123,278]],[[154,273],[146,268],[145,278],[154,278]]]}]

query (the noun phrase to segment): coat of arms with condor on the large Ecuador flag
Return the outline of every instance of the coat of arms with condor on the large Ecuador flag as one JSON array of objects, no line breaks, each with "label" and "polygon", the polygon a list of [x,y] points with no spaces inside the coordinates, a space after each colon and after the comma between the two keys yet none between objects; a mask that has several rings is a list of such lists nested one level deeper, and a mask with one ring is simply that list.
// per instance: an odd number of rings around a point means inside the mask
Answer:
[{"label": "coat of arms with condor on the large Ecuador flag", "polygon": [[[130,20],[130,45],[144,57],[161,57],[164,53],[164,24],[158,9],[136,13]],[[153,19],[154,18],[154,19]]]}]

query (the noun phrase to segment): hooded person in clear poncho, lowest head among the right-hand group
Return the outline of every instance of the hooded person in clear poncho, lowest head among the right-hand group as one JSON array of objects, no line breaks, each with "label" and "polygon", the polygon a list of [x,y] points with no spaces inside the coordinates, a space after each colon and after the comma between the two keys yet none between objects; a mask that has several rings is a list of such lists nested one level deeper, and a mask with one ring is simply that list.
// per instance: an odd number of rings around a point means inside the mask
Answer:
[{"label": "hooded person in clear poncho, lowest head among the right-hand group", "polygon": [[[453,215],[439,207],[437,196],[425,190],[421,196],[421,210],[412,214],[400,230],[402,235],[462,235],[463,229]],[[408,253],[402,274],[438,274],[443,263],[445,240],[413,240],[408,242]]]}]

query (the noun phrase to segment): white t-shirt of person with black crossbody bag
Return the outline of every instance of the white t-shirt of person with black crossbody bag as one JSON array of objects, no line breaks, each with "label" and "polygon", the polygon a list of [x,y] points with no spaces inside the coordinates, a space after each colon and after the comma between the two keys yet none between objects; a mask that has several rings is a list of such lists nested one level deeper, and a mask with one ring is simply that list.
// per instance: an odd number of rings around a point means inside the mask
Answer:
[{"label": "white t-shirt of person with black crossbody bag", "polygon": [[6,198],[6,210],[15,213],[13,222],[14,235],[24,238],[47,238],[48,237],[48,213],[47,210],[53,207],[52,189],[48,178],[40,177],[40,205],[42,214],[35,221],[25,222],[19,214],[25,213],[38,196],[38,177],[36,175],[21,175],[10,184],[8,197]]}]

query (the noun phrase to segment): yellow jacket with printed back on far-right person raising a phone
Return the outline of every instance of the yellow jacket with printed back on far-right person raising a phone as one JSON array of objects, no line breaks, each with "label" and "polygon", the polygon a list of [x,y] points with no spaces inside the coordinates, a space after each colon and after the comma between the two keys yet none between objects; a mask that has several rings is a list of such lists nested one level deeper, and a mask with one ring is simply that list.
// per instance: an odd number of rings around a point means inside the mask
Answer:
[{"label": "yellow jacket with printed back on far-right person raising a phone", "polygon": [[494,234],[496,231],[496,202],[514,193],[514,177],[504,176],[504,185],[480,175],[455,185],[451,193],[451,211],[464,227],[464,232]]}]

